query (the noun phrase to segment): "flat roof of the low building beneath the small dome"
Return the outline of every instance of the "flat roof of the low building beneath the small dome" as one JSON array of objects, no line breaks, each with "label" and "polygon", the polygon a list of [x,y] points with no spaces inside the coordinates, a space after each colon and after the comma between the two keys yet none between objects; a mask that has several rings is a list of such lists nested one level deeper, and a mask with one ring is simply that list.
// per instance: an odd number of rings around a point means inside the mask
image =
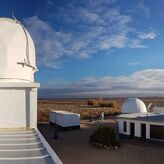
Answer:
[{"label": "flat roof of the low building beneath the small dome", "polygon": [[164,123],[164,114],[161,113],[130,113],[120,114],[118,118],[132,119],[138,121],[161,122]]}]

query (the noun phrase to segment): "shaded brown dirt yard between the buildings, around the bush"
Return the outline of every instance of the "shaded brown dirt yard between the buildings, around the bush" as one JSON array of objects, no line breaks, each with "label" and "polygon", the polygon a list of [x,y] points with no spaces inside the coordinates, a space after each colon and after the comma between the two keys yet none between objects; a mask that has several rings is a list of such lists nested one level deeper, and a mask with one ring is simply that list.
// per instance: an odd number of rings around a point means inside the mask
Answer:
[{"label": "shaded brown dirt yard between the buildings, around the bush", "polygon": [[[115,126],[108,119],[104,124]],[[100,123],[81,121],[80,130],[59,131],[58,139],[53,139],[54,128],[39,125],[39,129],[64,164],[163,164],[164,145],[150,144],[133,139],[121,139],[121,148],[106,150],[94,147],[89,136]]]}]

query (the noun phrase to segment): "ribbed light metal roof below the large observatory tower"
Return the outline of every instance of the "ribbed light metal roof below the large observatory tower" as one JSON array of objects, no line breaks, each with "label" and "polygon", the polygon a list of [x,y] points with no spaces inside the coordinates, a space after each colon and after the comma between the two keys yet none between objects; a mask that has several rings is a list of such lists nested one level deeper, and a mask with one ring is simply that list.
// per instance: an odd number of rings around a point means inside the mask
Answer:
[{"label": "ribbed light metal roof below the large observatory tower", "polygon": [[1,130],[0,163],[54,164],[35,130]]}]

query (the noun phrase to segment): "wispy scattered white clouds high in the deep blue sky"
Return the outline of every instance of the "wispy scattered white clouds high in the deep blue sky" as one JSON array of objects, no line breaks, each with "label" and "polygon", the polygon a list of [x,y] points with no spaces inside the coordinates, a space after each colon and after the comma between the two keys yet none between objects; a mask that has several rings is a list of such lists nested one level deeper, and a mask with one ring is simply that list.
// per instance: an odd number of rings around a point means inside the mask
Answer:
[{"label": "wispy scattered white clouds high in the deep blue sky", "polygon": [[112,7],[114,2],[70,0],[60,6],[49,0],[38,11],[46,19],[25,18],[39,54],[38,64],[60,68],[65,57],[86,59],[102,52],[108,54],[111,49],[146,48],[144,40],[154,39],[155,33],[141,32],[138,36],[131,15]]}]

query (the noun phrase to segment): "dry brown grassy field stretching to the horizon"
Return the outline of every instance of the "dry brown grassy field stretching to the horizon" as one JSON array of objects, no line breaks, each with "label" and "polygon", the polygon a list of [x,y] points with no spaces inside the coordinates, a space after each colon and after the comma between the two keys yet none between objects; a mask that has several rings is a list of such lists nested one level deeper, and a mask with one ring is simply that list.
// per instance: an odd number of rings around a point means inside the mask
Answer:
[{"label": "dry brown grassy field stretching to the horizon", "polygon": [[[164,98],[141,98],[146,105],[153,103],[153,105],[163,105]],[[125,98],[111,98],[104,99],[105,102],[116,102],[116,106],[112,107],[88,107],[88,99],[61,99],[61,100],[38,100],[38,123],[47,123],[49,120],[50,110],[65,110],[79,113],[81,118],[99,117],[101,112],[105,115],[111,115],[120,112],[120,107],[125,101]]]}]

